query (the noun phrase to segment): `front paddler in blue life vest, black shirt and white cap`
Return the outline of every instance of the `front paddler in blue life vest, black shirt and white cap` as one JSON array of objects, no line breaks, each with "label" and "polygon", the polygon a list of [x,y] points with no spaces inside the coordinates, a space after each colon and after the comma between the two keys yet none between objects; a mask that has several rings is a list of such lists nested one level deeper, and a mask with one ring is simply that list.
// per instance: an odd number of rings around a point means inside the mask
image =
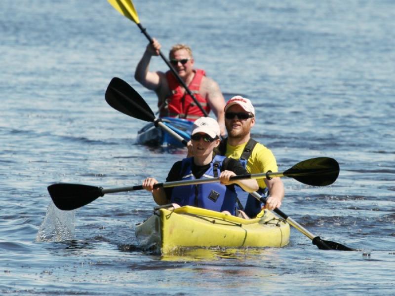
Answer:
[{"label": "front paddler in blue life vest, black shirt and white cap", "polygon": [[158,205],[190,205],[237,215],[235,185],[253,192],[258,189],[258,184],[254,179],[230,180],[233,176],[247,174],[247,171],[235,159],[220,155],[213,157],[213,150],[220,143],[219,136],[220,128],[216,120],[210,117],[197,119],[191,133],[194,156],[175,162],[166,182],[217,177],[221,182],[154,189],[158,181],[147,178],[142,186],[152,192]]}]

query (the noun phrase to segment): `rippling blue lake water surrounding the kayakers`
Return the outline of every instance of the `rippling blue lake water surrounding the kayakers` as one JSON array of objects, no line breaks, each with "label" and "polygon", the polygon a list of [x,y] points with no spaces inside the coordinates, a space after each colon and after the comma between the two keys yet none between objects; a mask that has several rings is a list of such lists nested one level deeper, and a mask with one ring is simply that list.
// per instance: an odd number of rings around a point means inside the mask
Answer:
[{"label": "rippling blue lake water surrounding the kayakers", "polygon": [[[283,178],[281,210],[296,229],[284,248],[186,250],[137,246],[146,191],[105,195],[71,212],[46,187],[105,188],[164,181],[184,149],[134,144],[144,122],[104,100],[111,78],[130,83],[147,39],[105,0],[0,3],[1,295],[395,294],[395,2],[143,1],[141,24],[167,55],[184,42],[224,94],[250,98],[253,137],[280,171],[319,156],[337,181]],[[152,69],[166,70],[160,58]]]}]

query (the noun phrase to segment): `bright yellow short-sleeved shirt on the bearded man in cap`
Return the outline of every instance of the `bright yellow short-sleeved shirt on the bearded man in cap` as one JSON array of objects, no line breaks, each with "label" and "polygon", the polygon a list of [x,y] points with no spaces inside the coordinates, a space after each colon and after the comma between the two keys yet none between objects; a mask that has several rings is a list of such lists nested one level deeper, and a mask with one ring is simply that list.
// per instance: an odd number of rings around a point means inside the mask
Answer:
[{"label": "bright yellow short-sleeved shirt on the bearded man in cap", "polygon": [[[225,156],[239,159],[247,143],[231,146],[227,143]],[[267,171],[278,172],[276,158],[272,151],[260,143],[257,143],[248,158],[246,165],[247,172],[250,174],[266,173]],[[258,186],[265,188],[264,179],[257,180]]]}]

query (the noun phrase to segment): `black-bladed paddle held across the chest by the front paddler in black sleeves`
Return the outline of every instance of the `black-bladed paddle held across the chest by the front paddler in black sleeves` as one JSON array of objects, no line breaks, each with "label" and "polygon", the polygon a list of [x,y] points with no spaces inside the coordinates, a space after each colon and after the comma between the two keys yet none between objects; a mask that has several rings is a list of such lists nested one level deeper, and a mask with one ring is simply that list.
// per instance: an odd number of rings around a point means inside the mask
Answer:
[{"label": "black-bladed paddle held across the chest by the front paddler in black sleeves", "polygon": [[[336,181],[339,175],[339,164],[333,158],[318,157],[301,161],[292,168],[282,173],[261,173],[261,174],[245,174],[231,177],[230,180],[242,179],[265,179],[274,177],[289,177],[312,186],[326,186]],[[309,178],[310,176],[310,178]],[[220,178],[197,179],[158,183],[154,185],[158,187],[175,187],[183,185],[197,185],[204,183],[219,182]],[[142,190],[142,185],[126,186],[118,188],[103,189],[102,187],[57,183],[48,186],[48,192],[53,203],[60,210],[75,210],[91,203],[95,199],[104,194],[117,193],[125,191]]]}]

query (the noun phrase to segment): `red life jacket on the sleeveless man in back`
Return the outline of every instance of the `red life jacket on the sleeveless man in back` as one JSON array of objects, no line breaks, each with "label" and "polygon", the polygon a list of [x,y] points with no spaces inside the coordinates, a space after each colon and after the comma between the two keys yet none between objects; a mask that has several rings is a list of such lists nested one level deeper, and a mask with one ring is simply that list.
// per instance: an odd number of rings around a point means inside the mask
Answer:
[{"label": "red life jacket on the sleeveless man in back", "polygon": [[[191,83],[188,85],[188,88],[195,96],[197,101],[200,103],[201,107],[207,112],[210,112],[210,106],[208,105],[205,98],[203,98],[199,94],[200,83],[203,75],[206,73],[203,70],[196,69],[195,76],[192,79]],[[195,121],[197,118],[204,116],[203,112],[199,109],[199,107],[195,104],[194,99],[187,93],[182,92],[182,88],[180,83],[174,77],[170,71],[166,72],[167,83],[169,85],[169,89],[171,91],[171,95],[166,98],[167,102],[167,114],[161,110],[160,115],[169,116],[169,117],[178,117],[185,118],[190,121]]]}]

